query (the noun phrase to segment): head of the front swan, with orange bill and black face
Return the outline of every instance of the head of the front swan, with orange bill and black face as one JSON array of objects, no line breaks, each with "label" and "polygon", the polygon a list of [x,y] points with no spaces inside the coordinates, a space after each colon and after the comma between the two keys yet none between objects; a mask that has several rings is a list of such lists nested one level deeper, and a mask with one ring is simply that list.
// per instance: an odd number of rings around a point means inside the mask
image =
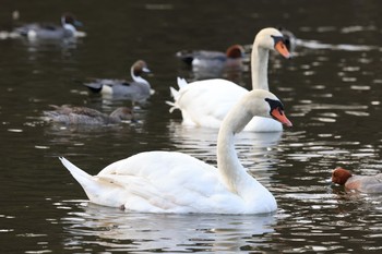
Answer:
[{"label": "head of the front swan, with orange bill and black face", "polygon": [[249,93],[249,101],[253,116],[273,118],[286,126],[293,125],[284,113],[283,102],[271,92],[253,89]]}]

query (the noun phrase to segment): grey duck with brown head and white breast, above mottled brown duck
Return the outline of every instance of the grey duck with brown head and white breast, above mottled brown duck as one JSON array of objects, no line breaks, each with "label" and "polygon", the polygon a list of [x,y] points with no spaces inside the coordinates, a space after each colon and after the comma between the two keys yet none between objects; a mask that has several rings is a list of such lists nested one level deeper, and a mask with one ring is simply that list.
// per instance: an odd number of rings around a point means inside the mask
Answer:
[{"label": "grey duck with brown head and white breast, above mottled brown duck", "polygon": [[96,78],[84,85],[93,93],[141,102],[155,93],[151,88],[150,83],[142,77],[143,73],[150,72],[147,63],[143,60],[138,60],[130,69],[132,81]]}]

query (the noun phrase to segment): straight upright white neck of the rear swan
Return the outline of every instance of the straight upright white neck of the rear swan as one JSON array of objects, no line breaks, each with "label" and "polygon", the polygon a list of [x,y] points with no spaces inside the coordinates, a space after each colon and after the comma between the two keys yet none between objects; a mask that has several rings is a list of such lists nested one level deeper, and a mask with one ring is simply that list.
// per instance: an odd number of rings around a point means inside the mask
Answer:
[{"label": "straight upright white neck of the rear swan", "polygon": [[270,90],[267,85],[267,63],[270,50],[253,44],[251,55],[252,89]]}]

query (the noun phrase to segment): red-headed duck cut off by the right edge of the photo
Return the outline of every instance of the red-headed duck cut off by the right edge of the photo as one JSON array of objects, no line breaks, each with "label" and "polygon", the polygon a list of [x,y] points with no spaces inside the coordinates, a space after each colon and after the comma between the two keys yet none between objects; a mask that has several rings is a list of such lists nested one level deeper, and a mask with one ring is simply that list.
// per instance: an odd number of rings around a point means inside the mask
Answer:
[{"label": "red-headed duck cut off by the right edge of the photo", "polygon": [[332,182],[344,185],[348,191],[382,193],[382,173],[374,176],[355,176],[349,170],[337,167],[332,172]]}]

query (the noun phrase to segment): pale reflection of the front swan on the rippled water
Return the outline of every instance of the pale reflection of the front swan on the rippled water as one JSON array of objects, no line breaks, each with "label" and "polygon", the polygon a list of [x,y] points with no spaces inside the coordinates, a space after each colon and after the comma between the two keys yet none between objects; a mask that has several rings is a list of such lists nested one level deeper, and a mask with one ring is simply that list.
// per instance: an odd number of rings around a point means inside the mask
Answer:
[{"label": "pale reflection of the front swan on the rippled water", "polygon": [[140,214],[91,203],[74,209],[77,211],[62,218],[70,237],[65,249],[71,250],[107,246],[110,251],[239,252],[261,245],[275,225],[274,215]]}]

